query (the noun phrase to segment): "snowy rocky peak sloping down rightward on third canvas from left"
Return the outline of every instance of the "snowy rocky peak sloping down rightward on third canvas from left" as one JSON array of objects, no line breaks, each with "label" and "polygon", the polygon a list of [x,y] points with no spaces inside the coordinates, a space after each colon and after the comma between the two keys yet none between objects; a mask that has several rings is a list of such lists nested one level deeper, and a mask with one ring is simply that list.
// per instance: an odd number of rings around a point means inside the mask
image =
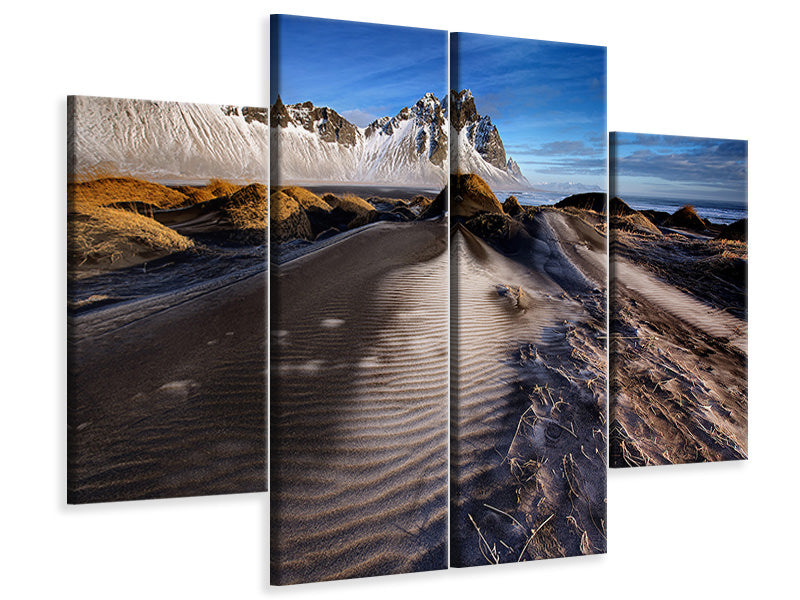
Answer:
[{"label": "snowy rocky peak sloping down rightward on third canvas from left", "polygon": [[475,108],[470,90],[450,92],[450,170],[480,175],[493,189],[520,190],[530,182],[513,158],[506,159],[503,140],[488,116]]}]

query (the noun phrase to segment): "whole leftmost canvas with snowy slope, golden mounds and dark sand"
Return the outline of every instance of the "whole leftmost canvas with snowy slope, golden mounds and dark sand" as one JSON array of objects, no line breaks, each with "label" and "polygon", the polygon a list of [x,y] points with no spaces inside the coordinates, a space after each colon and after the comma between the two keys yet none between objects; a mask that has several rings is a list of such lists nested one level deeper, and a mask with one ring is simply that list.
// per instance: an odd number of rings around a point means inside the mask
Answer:
[{"label": "whole leftmost canvas with snowy slope, golden mounds and dark sand", "polygon": [[68,108],[68,501],[263,491],[266,109]]}]

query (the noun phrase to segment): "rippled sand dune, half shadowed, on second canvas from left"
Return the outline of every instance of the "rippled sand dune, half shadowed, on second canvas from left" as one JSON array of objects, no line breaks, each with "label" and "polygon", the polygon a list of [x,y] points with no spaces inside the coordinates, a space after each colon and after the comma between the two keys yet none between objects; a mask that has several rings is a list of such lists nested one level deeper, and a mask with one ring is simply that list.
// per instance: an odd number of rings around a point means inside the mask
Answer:
[{"label": "rippled sand dune, half shadowed, on second canvas from left", "polygon": [[271,581],[447,567],[446,226],[273,265]]}]

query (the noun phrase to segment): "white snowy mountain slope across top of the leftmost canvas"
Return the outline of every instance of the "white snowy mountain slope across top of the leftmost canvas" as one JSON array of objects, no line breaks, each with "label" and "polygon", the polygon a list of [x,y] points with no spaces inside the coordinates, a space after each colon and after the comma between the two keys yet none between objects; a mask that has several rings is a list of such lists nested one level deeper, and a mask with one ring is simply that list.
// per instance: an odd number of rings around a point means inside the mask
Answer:
[{"label": "white snowy mountain slope across top of the leftmost canvas", "polygon": [[264,108],[86,96],[70,106],[75,175],[266,181]]}]

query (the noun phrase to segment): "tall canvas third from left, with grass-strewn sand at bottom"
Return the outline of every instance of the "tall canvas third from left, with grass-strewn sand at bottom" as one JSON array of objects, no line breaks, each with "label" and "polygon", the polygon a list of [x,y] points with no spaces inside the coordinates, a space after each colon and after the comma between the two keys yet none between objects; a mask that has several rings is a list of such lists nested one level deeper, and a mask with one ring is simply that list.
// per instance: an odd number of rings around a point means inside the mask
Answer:
[{"label": "tall canvas third from left, with grass-strewn sand at bottom", "polygon": [[451,37],[451,564],[606,549],[605,48]]}]

